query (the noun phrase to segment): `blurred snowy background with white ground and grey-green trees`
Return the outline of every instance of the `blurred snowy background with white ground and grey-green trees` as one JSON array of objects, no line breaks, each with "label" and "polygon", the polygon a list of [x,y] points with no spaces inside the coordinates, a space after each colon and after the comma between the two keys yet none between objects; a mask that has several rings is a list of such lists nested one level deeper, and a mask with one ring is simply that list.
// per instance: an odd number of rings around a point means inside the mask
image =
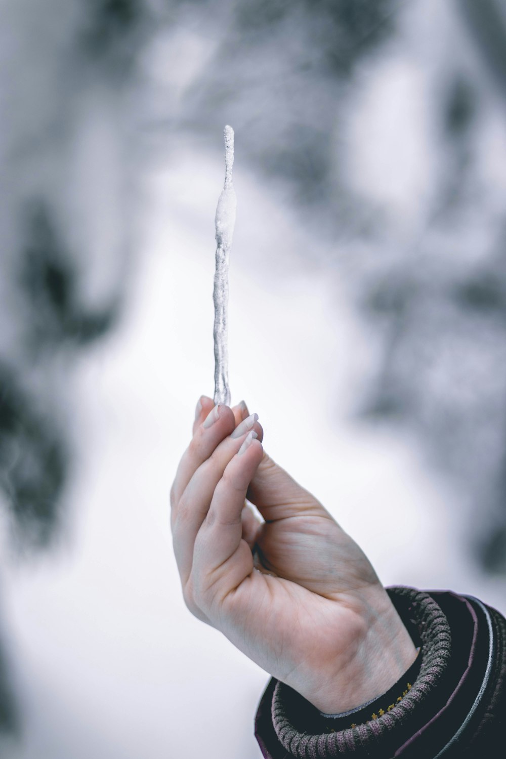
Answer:
[{"label": "blurred snowy background with white ground and grey-green trees", "polygon": [[230,383],[385,584],[506,608],[502,0],[0,0],[2,759],[258,759],[168,490]]}]

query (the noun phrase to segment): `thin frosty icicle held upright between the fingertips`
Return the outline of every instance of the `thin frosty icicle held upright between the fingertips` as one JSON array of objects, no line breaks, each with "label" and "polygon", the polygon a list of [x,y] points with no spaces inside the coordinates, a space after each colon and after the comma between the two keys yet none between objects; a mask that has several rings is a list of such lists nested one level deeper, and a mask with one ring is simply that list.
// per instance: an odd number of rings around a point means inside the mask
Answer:
[{"label": "thin frosty icicle held upright between the fingertips", "polygon": [[225,137],[225,184],[218,199],[215,215],[216,266],[212,299],[215,304],[215,397],[216,403],[230,405],[228,387],[228,254],[234,236],[237,199],[232,184],[234,165],[234,130],[226,126]]}]

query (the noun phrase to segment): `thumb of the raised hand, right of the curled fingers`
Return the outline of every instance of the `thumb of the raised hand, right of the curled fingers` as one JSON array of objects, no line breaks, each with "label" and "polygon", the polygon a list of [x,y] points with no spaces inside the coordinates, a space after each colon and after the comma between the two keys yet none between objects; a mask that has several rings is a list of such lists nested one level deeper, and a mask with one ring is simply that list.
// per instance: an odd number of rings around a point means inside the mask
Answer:
[{"label": "thumb of the raised hand, right of the curled fingers", "polygon": [[250,482],[247,499],[266,521],[322,510],[323,506],[266,452]]}]

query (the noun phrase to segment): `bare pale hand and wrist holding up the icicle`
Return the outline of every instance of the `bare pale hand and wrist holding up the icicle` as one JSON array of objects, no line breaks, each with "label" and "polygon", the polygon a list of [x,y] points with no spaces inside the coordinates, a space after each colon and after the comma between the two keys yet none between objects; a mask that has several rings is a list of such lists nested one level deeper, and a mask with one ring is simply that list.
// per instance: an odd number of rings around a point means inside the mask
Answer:
[{"label": "bare pale hand and wrist holding up the icicle", "polygon": [[320,711],[354,709],[410,667],[413,641],[363,551],[262,439],[244,402],[200,398],[171,488],[185,603]]}]

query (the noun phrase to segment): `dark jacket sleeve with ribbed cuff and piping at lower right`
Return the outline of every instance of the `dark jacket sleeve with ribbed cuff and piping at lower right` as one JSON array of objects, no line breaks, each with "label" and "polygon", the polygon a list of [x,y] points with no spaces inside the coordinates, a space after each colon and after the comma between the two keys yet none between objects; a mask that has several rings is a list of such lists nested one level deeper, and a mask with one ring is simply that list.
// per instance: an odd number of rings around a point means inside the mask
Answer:
[{"label": "dark jacket sleeve with ribbed cuff and piping at lower right", "polygon": [[450,591],[392,587],[388,594],[420,646],[413,682],[410,670],[407,682],[396,684],[398,696],[394,686],[336,719],[271,679],[255,725],[266,759],[495,755],[506,726],[506,620],[478,599]]}]

